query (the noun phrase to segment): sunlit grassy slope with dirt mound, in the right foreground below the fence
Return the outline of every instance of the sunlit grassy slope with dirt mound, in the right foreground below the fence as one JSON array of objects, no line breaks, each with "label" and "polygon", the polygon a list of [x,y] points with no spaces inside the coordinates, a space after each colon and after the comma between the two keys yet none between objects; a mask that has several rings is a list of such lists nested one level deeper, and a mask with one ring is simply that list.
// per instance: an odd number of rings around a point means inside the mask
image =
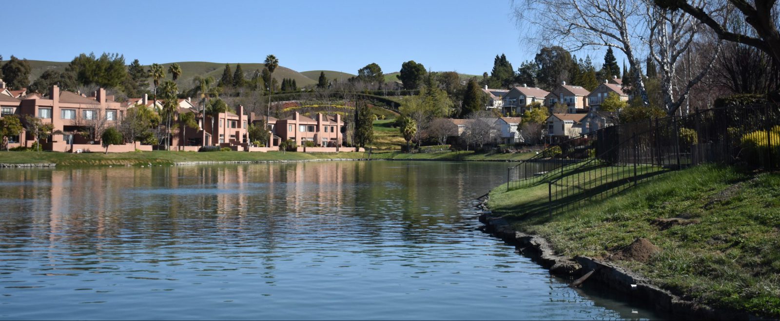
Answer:
[{"label": "sunlit grassy slope with dirt mound, in the right foreground below the fence", "polygon": [[502,185],[489,206],[566,256],[610,259],[646,238],[661,252],[613,263],[683,298],[780,317],[780,173],[699,166],[551,218],[532,214],[547,196],[546,184],[510,192]]}]

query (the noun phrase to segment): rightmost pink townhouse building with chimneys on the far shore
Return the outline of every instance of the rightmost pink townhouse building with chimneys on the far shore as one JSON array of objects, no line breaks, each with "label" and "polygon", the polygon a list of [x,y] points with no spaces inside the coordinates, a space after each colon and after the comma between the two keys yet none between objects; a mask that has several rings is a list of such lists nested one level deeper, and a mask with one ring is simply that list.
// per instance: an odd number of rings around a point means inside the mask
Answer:
[{"label": "rightmost pink townhouse building with chimneys on the far shore", "polygon": [[342,144],[343,128],[341,115],[317,114],[317,119],[312,119],[296,112],[288,118],[278,119],[275,132],[280,139],[293,139],[298,145],[311,141],[316,146],[336,147]]}]

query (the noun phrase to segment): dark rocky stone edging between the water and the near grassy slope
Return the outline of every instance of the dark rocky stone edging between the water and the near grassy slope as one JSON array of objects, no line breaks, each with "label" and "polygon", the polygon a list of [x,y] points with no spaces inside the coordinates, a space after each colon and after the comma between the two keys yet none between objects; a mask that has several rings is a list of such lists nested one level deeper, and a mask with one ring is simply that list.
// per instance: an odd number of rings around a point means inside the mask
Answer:
[{"label": "dark rocky stone edging between the water and the near grassy slope", "polygon": [[555,255],[551,244],[544,238],[515,231],[504,218],[493,216],[486,206],[487,202],[488,200],[485,199],[479,205],[486,211],[479,217],[480,222],[484,224],[483,231],[516,245],[519,252],[550,270],[550,273],[554,275],[583,277],[593,271],[584,282],[596,282],[601,287],[626,295],[637,302],[644,302],[656,312],[675,319],[761,319],[747,312],[714,309],[707,305],[685,300],[654,286],[650,280],[640,277],[636,273],[603,260],[587,256]]}]

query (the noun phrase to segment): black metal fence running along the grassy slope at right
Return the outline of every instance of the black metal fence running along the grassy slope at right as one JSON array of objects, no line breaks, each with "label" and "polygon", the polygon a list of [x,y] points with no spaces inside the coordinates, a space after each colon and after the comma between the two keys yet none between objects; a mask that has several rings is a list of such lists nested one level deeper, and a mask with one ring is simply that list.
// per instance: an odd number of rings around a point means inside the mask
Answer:
[{"label": "black metal fence running along the grassy slope at right", "polygon": [[704,163],[780,168],[778,105],[708,109],[590,132],[509,168],[507,188],[546,185],[544,207],[552,214]]}]

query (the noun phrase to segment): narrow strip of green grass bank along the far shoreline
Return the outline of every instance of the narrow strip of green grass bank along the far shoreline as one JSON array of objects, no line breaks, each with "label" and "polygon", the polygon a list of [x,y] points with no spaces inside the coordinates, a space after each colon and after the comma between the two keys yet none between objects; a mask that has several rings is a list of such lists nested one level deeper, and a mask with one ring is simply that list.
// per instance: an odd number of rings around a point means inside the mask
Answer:
[{"label": "narrow strip of green grass bank along the far shoreline", "polygon": [[0,152],[2,164],[56,164],[62,166],[108,166],[174,164],[190,161],[268,161],[268,160],[327,160],[327,159],[387,159],[387,160],[522,160],[530,153],[473,153],[467,151],[441,153],[296,153],[296,152],[177,152],[157,150],[133,153],[56,153],[56,152]]}]

